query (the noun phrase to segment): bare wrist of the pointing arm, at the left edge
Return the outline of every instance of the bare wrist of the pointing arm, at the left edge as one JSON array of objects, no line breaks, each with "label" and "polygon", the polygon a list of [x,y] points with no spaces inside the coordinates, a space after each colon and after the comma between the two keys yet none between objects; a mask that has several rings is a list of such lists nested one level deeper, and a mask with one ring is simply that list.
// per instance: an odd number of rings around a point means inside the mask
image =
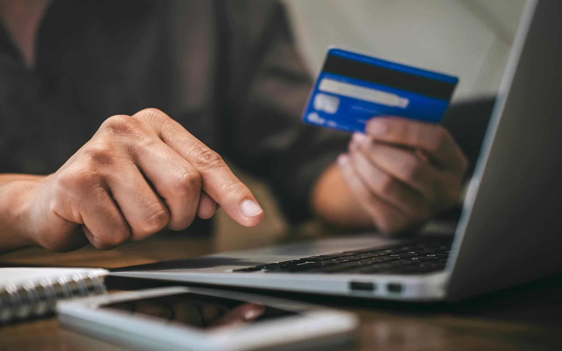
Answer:
[{"label": "bare wrist of the pointing arm, at the left edge", "polygon": [[33,245],[29,236],[30,197],[43,176],[0,175],[0,251]]}]

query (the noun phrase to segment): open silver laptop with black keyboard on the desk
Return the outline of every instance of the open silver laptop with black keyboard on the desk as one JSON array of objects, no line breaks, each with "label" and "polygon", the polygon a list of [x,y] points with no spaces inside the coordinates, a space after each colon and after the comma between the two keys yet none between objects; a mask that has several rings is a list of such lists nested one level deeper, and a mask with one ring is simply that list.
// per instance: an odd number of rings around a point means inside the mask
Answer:
[{"label": "open silver laptop with black keyboard on the desk", "polygon": [[562,3],[529,1],[451,235],[312,240],[113,270],[245,288],[434,301],[562,271]]}]

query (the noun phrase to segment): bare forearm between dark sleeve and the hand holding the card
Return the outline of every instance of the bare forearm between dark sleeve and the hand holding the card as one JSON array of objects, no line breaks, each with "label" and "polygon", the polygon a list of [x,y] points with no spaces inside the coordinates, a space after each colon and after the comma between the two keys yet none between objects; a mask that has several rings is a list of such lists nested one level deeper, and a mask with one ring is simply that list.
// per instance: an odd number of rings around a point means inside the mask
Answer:
[{"label": "bare forearm between dark sleeve and the hand holding the card", "polygon": [[373,227],[369,214],[345,184],[339,167],[328,167],[312,190],[312,211],[330,224],[345,227]]}]

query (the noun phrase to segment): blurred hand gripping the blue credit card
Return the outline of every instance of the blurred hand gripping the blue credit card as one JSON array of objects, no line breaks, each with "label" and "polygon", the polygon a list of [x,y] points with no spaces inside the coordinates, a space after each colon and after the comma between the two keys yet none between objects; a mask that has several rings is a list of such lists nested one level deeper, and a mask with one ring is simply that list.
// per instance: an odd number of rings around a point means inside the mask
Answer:
[{"label": "blurred hand gripping the blue credit card", "polygon": [[338,164],[348,188],[384,233],[408,229],[453,206],[468,162],[440,125],[377,117]]}]

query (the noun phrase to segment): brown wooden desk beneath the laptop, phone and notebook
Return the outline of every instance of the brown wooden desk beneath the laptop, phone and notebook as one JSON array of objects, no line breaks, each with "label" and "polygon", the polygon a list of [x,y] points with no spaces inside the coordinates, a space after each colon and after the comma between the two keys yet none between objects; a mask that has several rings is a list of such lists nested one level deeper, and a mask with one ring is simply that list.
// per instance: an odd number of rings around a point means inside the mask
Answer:
[{"label": "brown wooden desk beneath the laptop, phone and notebook", "polygon": [[[110,251],[25,249],[0,256],[16,265],[113,268],[213,252],[212,240],[154,238]],[[110,286],[111,288],[111,286]],[[279,295],[279,294],[277,294]],[[404,304],[282,294],[359,313],[359,350],[560,350],[562,276],[462,303]],[[62,329],[55,318],[0,328],[0,350],[124,350]]]}]

